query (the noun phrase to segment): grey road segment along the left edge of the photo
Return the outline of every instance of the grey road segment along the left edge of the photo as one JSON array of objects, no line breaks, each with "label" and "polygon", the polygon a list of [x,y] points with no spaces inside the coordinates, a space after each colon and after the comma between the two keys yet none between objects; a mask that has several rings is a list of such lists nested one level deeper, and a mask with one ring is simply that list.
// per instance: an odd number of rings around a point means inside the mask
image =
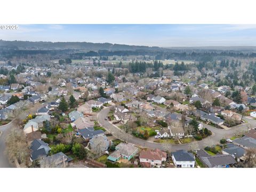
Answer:
[{"label": "grey road segment along the left edge of the photo", "polygon": [[5,138],[8,130],[12,127],[12,122],[6,125],[0,126],[0,167],[13,167],[13,165],[9,162],[5,154]]}]

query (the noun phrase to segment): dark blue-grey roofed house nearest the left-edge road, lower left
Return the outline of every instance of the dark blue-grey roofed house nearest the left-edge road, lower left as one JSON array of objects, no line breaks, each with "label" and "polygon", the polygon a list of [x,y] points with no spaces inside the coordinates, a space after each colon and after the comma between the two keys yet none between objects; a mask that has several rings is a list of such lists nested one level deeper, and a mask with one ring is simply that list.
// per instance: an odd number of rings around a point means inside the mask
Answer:
[{"label": "dark blue-grey roofed house nearest the left-edge road, lower left", "polygon": [[40,157],[44,157],[49,154],[51,148],[47,143],[39,139],[35,139],[30,145],[30,161],[35,161]]}]

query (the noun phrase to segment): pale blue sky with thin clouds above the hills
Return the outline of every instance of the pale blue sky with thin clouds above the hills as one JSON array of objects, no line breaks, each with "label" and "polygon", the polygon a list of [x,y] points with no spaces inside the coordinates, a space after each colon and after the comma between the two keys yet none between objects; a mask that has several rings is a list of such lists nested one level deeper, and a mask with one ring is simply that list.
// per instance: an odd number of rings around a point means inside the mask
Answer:
[{"label": "pale blue sky with thin clouds above the hills", "polygon": [[256,25],[19,25],[6,41],[92,42],[159,47],[256,46]]}]

